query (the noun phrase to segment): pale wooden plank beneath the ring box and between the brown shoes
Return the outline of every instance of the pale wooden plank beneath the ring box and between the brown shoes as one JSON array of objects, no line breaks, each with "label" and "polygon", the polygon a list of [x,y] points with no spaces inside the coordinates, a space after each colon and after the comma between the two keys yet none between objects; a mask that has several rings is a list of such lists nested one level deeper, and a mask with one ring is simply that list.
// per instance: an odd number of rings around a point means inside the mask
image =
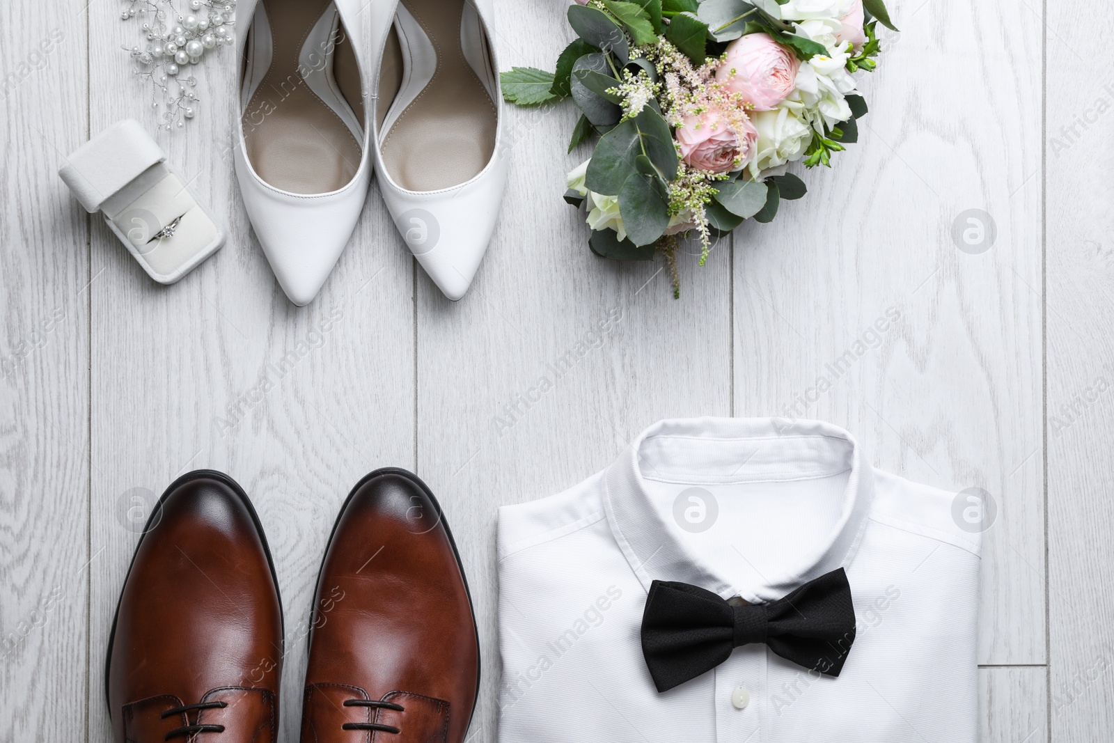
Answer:
[{"label": "pale wooden plank beneath the ring box and between the brown shoes", "polygon": [[[117,18],[92,37],[119,35]],[[195,74],[203,99],[183,129],[162,134],[169,162],[228,227],[225,246],[178,284],[154,284],[109,232],[92,233],[92,521],[90,735],[108,735],[100,674],[136,528],[129,498],[157,497],[180,472],[212,467],[252,497],[283,597],[286,656],[281,725],[299,730],[305,629],[336,510],[356,480],[412,466],[413,274],[373,192],[321,295],[293,306],[241,204],[231,143],[237,65],[225,48]],[[131,116],[150,128],[146,91],[111,45],[91,53],[92,129]],[[139,509],[141,510],[141,509]],[[141,528],[141,521],[140,521]]]}]

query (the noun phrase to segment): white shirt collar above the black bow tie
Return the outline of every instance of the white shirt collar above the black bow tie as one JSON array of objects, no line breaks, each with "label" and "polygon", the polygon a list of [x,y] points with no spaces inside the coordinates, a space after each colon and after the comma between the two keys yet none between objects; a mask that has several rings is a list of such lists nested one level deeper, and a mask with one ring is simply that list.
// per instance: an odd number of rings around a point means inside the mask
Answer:
[{"label": "white shirt collar above the black bow tie", "polygon": [[[797,565],[760,585],[735,585],[692,554],[680,527],[663,518],[646,480],[720,485],[802,480],[850,470],[831,532]],[[871,466],[850,433],[820,421],[778,418],[665,420],[643,431],[604,475],[604,510],[616,542],[646,590],[653,580],[680,580],[723,598],[781,598],[798,586],[847,567],[858,548],[873,495]],[[791,515],[786,514],[786,518]]]}]

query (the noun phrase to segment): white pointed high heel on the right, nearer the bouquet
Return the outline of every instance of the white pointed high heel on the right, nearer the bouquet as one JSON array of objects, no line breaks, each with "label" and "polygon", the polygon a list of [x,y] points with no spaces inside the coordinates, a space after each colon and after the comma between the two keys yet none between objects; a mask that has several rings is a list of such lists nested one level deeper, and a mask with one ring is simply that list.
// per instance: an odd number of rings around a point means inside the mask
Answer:
[{"label": "white pointed high heel on the right, nearer the bouquet", "polygon": [[380,190],[426,273],[450,300],[468,291],[507,183],[491,0],[383,0],[372,149]]}]

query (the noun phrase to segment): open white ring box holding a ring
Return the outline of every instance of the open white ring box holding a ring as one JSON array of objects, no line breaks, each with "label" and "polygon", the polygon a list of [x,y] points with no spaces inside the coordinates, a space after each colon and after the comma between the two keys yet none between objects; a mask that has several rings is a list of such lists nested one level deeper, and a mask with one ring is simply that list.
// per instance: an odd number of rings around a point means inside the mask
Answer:
[{"label": "open white ring box holding a ring", "polygon": [[160,284],[178,281],[224,244],[216,219],[134,119],[82,145],[58,175],[87,212],[104,213],[108,227]]}]

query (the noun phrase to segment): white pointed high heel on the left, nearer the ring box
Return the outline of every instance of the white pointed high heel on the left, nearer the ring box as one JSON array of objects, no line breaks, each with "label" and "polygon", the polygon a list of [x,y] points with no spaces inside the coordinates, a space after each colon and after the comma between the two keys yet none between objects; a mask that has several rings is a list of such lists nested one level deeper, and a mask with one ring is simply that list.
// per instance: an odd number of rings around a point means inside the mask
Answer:
[{"label": "white pointed high heel on the left, nearer the ring box", "polygon": [[336,265],[371,182],[359,11],[356,0],[236,7],[236,177],[271,268],[299,306]]}]

